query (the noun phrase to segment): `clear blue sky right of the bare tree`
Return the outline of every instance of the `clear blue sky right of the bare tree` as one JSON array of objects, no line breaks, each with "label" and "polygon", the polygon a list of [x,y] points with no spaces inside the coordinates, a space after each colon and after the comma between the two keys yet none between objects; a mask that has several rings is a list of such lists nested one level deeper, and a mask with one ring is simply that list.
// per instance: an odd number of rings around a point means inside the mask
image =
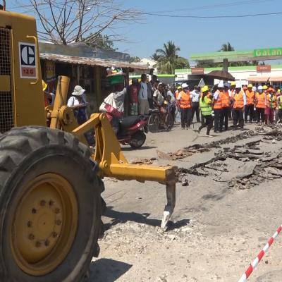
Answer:
[{"label": "clear blue sky right of the bare tree", "polygon": [[[10,1],[7,1],[8,3]],[[27,3],[27,0],[23,0]],[[282,12],[281,0],[123,0],[121,8],[182,16],[229,16]],[[13,10],[9,6],[8,9]],[[235,50],[281,47],[282,15],[252,18],[164,18],[145,15],[143,23],[123,25],[121,32],[132,43],[117,42],[119,51],[148,57],[172,40],[180,55],[217,51],[231,42]]]}]

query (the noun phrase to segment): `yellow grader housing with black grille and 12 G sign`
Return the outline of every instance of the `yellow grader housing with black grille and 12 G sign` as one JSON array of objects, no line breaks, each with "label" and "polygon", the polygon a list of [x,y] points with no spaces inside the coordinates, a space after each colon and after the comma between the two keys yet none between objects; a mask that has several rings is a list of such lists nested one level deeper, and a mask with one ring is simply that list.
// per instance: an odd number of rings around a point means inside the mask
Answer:
[{"label": "yellow grader housing with black grille and 12 G sign", "polygon": [[1,133],[46,125],[35,18],[0,11],[0,39]]}]

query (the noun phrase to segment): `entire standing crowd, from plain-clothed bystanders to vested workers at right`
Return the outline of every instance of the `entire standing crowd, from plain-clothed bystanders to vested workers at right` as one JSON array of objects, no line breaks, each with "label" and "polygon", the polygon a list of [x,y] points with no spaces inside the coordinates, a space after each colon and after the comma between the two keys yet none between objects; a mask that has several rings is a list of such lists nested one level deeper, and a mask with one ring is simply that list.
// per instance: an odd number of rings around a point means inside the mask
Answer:
[{"label": "entire standing crowd, from plain-clothed bystanders to vested workers at right", "polygon": [[173,109],[173,118],[180,113],[182,129],[189,129],[194,116],[201,123],[198,131],[207,126],[207,136],[214,128],[215,133],[228,130],[228,121],[233,121],[233,130],[243,130],[244,124],[259,124],[282,121],[282,95],[273,85],[240,85],[238,82],[220,81],[213,87],[190,87],[182,85],[164,85],[154,75],[150,82],[147,75],[141,76],[141,82],[133,80],[130,87],[131,114],[149,114],[149,109],[159,107],[160,112]]}]

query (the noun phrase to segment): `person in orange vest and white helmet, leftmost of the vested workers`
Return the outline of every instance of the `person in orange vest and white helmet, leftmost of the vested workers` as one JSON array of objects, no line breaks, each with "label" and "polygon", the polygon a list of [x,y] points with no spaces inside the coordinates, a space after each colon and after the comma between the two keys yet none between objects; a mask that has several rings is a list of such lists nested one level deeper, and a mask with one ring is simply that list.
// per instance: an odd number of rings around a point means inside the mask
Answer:
[{"label": "person in orange vest and white helmet, leftmost of the vested workers", "polygon": [[177,102],[180,107],[181,115],[181,128],[189,129],[191,125],[191,116],[192,116],[192,106],[189,86],[186,83],[181,85],[182,91],[178,94]]}]

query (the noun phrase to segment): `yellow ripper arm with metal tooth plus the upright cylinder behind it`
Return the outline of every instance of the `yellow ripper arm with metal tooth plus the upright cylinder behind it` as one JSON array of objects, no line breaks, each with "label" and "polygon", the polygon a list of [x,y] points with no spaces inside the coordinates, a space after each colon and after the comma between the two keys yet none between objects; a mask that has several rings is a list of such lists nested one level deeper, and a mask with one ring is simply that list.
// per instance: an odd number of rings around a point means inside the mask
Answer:
[{"label": "yellow ripper arm with metal tooth plus the upright cylinder behind it", "polygon": [[80,142],[87,144],[85,133],[94,129],[95,153],[92,159],[99,164],[99,176],[114,177],[119,180],[137,180],[140,182],[157,181],[166,185],[167,204],[161,227],[165,228],[176,205],[176,173],[171,166],[139,166],[128,164],[111,124],[105,114],[92,114],[90,119],[78,125],[73,110],[66,106],[69,79],[62,76],[56,91],[54,108],[49,112],[51,128],[62,128],[73,133]]}]

